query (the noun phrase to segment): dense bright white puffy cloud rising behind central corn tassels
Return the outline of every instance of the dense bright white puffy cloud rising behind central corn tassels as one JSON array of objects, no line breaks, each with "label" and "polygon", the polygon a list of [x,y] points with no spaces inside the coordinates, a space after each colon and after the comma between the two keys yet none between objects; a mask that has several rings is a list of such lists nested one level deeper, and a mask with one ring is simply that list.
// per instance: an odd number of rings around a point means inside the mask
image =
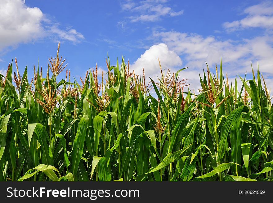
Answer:
[{"label": "dense bright white puffy cloud rising behind central corn tassels", "polygon": [[157,76],[160,75],[158,58],[162,70],[181,68],[181,58],[174,51],[170,51],[166,44],[160,43],[151,46],[141,54],[140,58],[130,65],[130,70],[135,70],[136,74],[142,75],[142,68],[144,68],[146,79],[151,77],[153,80],[157,80]]}]

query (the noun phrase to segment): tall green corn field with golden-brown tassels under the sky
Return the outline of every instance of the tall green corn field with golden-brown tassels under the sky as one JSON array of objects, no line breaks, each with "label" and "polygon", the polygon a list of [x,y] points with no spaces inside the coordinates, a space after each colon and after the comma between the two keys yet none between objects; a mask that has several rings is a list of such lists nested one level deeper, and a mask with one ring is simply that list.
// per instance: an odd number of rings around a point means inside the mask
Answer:
[{"label": "tall green corn field with golden-brown tassels under the sky", "polygon": [[221,60],[192,92],[183,69],[159,61],[146,84],[144,70],[108,57],[102,78],[96,66],[77,82],[59,46],[45,75],[34,66],[20,76],[16,59],[1,74],[0,181],[272,180],[273,108],[259,69],[229,85]]}]

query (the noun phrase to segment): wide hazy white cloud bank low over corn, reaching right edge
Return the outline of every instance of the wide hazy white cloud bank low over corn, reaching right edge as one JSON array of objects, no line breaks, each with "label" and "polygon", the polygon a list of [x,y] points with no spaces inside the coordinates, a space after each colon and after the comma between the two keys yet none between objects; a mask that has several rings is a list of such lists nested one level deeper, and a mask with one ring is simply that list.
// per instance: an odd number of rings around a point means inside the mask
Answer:
[{"label": "wide hazy white cloud bank low over corn, reaching right edge", "polygon": [[[215,63],[219,67],[220,58],[223,61],[223,73],[230,77],[236,74],[241,76],[251,73],[252,60],[253,69],[259,69],[262,73],[273,73],[273,39],[271,36],[255,37],[253,39],[243,39],[240,43],[233,40],[219,40],[214,36],[203,37],[198,34],[188,34],[180,32],[154,32],[153,38],[165,43],[170,50],[181,56],[185,67],[181,74],[188,78],[190,88],[198,89],[199,74],[206,70],[208,63],[210,69],[214,71]],[[185,75],[185,76],[184,76]],[[194,76],[194,77],[193,77]]]}]

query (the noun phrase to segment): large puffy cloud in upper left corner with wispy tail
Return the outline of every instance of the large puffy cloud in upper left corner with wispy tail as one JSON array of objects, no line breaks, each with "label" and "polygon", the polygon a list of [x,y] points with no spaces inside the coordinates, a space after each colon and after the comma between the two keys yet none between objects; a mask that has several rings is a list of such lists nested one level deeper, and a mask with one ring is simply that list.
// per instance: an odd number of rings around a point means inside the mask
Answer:
[{"label": "large puffy cloud in upper left corner with wispy tail", "polygon": [[0,1],[0,51],[51,36],[74,43],[84,38],[75,29],[60,29],[58,23],[47,19],[39,8],[26,6],[24,0]]}]

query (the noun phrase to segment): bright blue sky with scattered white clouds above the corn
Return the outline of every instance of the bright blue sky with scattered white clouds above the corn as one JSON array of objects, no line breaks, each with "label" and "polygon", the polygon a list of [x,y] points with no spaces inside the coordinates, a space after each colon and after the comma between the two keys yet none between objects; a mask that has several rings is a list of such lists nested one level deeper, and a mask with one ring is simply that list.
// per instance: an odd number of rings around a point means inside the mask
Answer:
[{"label": "bright blue sky with scattered white clouds above the corn", "polygon": [[[78,79],[98,64],[105,70],[121,55],[130,69],[156,79],[157,58],[163,68],[181,72],[190,88],[199,87],[198,73],[223,61],[223,72],[262,71],[273,87],[272,1],[174,1],[174,0],[1,0],[0,72],[16,57],[20,71],[28,65],[47,68],[48,57],[60,55]],[[64,74],[64,73],[63,73]],[[61,76],[60,76],[61,77]]]}]

